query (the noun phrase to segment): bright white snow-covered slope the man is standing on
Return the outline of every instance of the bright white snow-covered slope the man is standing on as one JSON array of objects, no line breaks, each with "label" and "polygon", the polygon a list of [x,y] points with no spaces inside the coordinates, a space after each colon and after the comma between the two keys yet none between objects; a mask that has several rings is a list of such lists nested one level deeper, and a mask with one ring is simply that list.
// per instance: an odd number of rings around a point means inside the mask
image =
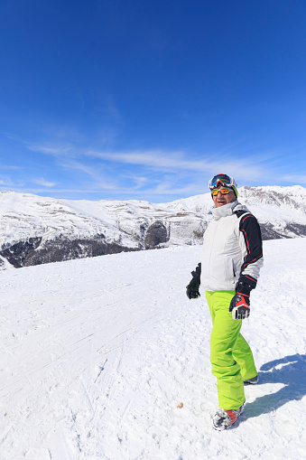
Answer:
[{"label": "bright white snow-covered slope the man is standing on", "polygon": [[0,273],[1,460],[306,458],[306,239],[264,241],[242,328],[260,381],[223,432],[208,306],[185,295],[200,253]]}]

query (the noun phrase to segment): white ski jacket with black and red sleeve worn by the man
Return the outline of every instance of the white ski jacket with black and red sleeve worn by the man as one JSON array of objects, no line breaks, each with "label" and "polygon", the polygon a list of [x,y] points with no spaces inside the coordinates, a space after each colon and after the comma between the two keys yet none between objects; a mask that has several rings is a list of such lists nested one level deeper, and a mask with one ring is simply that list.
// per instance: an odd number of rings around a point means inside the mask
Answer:
[{"label": "white ski jacket with black and red sleeve worn by the man", "polygon": [[212,209],[204,233],[200,284],[207,291],[235,290],[243,282],[255,288],[264,265],[259,224],[237,200]]}]

